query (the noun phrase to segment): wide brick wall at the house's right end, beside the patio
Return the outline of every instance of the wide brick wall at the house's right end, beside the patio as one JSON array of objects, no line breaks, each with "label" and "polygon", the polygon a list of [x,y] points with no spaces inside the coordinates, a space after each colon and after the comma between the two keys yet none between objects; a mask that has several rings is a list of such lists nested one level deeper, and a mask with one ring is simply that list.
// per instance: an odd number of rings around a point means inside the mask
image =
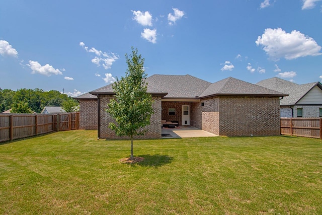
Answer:
[{"label": "wide brick wall at the house's right end, beside the patio", "polygon": [[279,135],[279,97],[221,96],[219,124],[219,135]]}]

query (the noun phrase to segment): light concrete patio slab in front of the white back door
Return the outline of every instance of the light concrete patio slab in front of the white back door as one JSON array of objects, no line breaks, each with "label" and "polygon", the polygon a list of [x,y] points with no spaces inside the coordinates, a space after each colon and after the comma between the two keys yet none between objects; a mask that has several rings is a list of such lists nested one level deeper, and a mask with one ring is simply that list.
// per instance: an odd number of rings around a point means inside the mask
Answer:
[{"label": "light concrete patio slab in front of the white back door", "polygon": [[186,138],[186,137],[206,137],[218,136],[213,133],[195,128],[193,126],[179,126],[176,128],[163,128],[162,138]]}]

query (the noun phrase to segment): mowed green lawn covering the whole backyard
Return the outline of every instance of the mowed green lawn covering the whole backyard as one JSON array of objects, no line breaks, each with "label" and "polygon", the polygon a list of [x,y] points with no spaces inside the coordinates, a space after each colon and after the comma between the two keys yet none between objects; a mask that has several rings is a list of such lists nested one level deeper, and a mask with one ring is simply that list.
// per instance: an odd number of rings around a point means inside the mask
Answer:
[{"label": "mowed green lawn covering the whole backyard", "polygon": [[322,214],[322,140],[130,141],[64,131],[0,145],[0,214]]}]

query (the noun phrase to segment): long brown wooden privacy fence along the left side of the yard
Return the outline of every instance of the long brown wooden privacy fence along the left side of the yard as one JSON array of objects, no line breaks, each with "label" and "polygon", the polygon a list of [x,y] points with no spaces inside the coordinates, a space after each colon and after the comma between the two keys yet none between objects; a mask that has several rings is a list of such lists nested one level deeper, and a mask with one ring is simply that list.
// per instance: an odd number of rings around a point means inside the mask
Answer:
[{"label": "long brown wooden privacy fence along the left side of the yard", "polygon": [[59,114],[0,114],[0,142],[53,131],[79,129],[79,112]]}]

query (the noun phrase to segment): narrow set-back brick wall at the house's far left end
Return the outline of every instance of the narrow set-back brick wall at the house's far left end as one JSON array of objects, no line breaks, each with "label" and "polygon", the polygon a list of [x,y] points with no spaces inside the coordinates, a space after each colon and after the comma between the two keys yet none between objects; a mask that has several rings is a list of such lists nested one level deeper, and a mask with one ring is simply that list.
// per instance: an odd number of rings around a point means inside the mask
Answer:
[{"label": "narrow set-back brick wall at the house's far left end", "polygon": [[97,130],[97,99],[79,100],[79,129]]}]

